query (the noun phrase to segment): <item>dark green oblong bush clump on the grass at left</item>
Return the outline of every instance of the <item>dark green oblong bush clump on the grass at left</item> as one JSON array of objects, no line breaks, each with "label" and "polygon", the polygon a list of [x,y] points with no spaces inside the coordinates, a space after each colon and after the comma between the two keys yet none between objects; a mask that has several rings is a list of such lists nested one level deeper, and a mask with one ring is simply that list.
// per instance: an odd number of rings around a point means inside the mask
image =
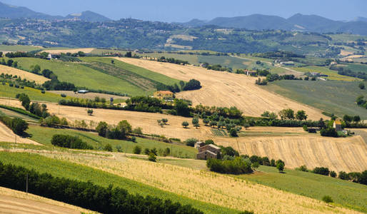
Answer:
[{"label": "dark green oblong bush clump on the grass at left", "polygon": [[84,141],[81,141],[80,138],[74,136],[56,134],[52,136],[51,143],[54,146],[63,148],[93,149],[92,146],[89,146]]}]

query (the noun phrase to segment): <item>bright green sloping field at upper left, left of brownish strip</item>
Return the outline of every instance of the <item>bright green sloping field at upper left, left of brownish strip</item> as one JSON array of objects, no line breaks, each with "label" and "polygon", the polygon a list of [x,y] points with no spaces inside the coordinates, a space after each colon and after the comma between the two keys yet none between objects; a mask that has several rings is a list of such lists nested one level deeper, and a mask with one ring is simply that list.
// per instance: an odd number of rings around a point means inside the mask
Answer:
[{"label": "bright green sloping field at upper left, left of brownish strip", "polygon": [[40,58],[14,58],[14,61],[18,61],[18,65],[25,69],[30,69],[31,66],[38,64],[41,70],[50,69],[56,73],[60,81],[74,83],[76,86],[128,93],[132,96],[145,94],[143,89],[121,78],[101,73],[80,63],[49,61]]}]

